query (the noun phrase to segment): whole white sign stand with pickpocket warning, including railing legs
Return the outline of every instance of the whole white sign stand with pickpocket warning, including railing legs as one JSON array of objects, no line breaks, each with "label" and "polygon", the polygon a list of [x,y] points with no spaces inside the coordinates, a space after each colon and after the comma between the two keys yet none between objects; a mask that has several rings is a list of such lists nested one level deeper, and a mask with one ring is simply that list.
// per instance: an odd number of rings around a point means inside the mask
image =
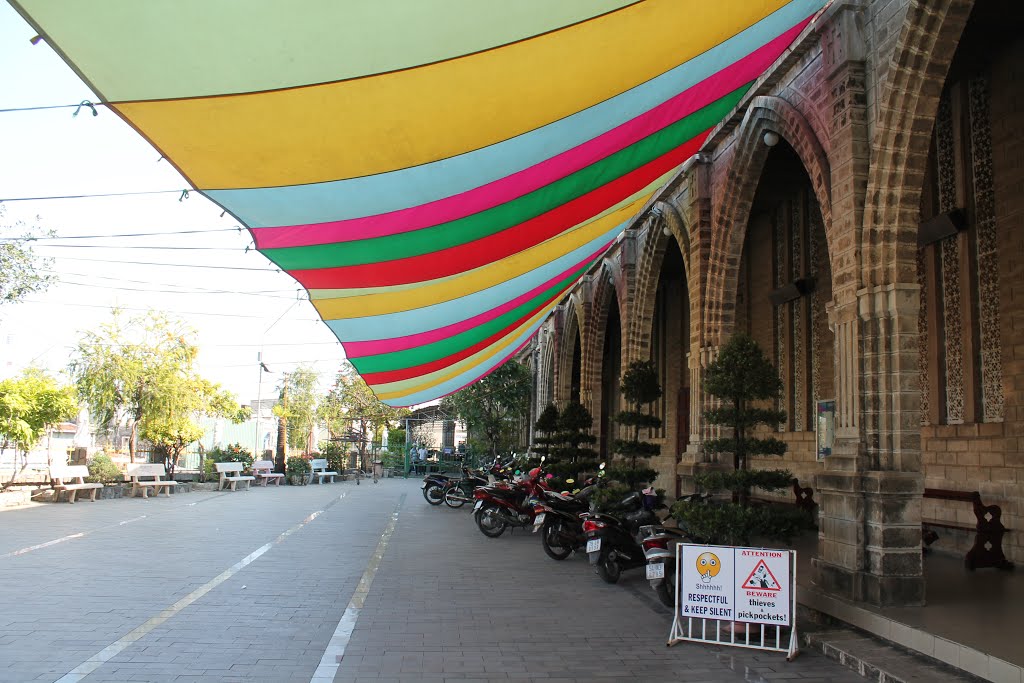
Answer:
[{"label": "whole white sign stand with pickpocket warning, including railing legs", "polygon": [[677,544],[676,608],[666,644],[784,652],[793,661],[800,654],[796,588],[795,550]]}]

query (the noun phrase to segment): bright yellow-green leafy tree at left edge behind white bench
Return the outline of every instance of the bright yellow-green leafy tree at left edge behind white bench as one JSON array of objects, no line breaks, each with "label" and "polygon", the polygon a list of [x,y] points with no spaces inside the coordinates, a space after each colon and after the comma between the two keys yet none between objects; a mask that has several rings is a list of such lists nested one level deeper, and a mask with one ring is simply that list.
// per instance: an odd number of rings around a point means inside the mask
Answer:
[{"label": "bright yellow-green leafy tree at left edge behind white bench", "polygon": [[77,412],[74,387],[29,368],[20,377],[0,381],[0,444],[28,453],[47,429]]}]

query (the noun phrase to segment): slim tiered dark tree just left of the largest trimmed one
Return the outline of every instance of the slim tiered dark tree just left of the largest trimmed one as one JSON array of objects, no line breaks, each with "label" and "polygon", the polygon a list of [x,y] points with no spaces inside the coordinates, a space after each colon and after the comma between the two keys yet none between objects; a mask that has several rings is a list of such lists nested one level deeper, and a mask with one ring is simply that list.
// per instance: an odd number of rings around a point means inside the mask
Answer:
[{"label": "slim tiered dark tree just left of the largest trimmed one", "polygon": [[662,419],[651,412],[651,404],[662,397],[657,370],[651,360],[635,360],[626,369],[622,378],[622,391],[629,410],[623,411],[615,421],[626,427],[629,438],[615,439],[612,452],[617,462],[608,468],[608,476],[636,490],[640,484],[649,483],[657,471],[646,465],[647,460],[660,453],[656,443],[640,440],[642,429],[657,429]]}]

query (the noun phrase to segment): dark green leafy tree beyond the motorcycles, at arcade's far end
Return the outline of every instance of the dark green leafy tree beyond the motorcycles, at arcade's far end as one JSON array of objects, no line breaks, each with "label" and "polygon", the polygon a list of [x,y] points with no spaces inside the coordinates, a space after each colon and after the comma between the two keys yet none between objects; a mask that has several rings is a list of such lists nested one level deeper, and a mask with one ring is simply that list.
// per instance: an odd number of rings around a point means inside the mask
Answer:
[{"label": "dark green leafy tree beyond the motorcycles, at arcade's far end", "polygon": [[529,415],[531,380],[518,362],[506,362],[486,377],[441,399],[441,410],[478,433],[492,457],[519,445],[522,422]]}]

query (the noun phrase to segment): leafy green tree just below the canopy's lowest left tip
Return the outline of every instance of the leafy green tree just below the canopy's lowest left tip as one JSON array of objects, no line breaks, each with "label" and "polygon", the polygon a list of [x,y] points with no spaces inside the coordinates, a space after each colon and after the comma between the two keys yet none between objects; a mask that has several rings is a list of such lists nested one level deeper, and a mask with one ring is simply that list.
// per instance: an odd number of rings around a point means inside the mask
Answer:
[{"label": "leafy green tree just below the canopy's lowest left tip", "polygon": [[321,401],[317,414],[332,438],[341,437],[355,445],[362,465],[367,446],[383,440],[384,429],[397,424],[409,413],[407,409],[382,402],[351,364],[345,362],[338,370],[334,386]]}]

